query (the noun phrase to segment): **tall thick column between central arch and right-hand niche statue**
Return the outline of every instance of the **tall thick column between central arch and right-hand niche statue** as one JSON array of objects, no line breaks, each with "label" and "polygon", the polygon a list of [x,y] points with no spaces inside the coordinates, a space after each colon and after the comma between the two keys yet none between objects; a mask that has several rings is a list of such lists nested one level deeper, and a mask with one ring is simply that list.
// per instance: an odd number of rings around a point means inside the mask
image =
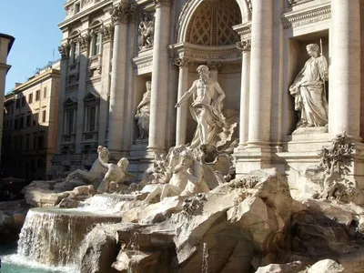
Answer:
[{"label": "tall thick column between central arch and right-hand niche statue", "polygon": [[252,2],[248,145],[264,147],[270,139],[273,1]]}]

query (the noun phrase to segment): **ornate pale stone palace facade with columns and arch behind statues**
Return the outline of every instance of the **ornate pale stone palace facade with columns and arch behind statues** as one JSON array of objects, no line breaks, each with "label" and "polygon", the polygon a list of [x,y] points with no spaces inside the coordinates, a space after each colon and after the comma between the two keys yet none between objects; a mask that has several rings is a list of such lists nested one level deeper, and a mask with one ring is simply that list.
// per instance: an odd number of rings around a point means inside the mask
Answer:
[{"label": "ornate pale stone palace facade with columns and arch behind statues", "polygon": [[[295,187],[318,151],[344,130],[355,142],[352,174],[364,175],[364,1],[68,0],[59,24],[59,171],[88,168],[98,145],[127,157],[141,177],[155,154],[187,144],[196,130],[188,104],[175,108],[207,65],[239,116],[238,176],[278,167]],[[363,15],[363,16],[361,16]],[[289,86],[318,44],[329,63],[326,126],[297,128]],[[147,139],[136,107],[151,81]]]}]

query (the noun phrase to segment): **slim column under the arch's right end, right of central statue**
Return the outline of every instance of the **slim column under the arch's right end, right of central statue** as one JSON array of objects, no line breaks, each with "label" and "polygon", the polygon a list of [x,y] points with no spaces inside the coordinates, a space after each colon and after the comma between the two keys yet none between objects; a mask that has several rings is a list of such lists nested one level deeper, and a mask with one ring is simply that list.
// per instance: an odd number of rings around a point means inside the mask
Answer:
[{"label": "slim column under the arch's right end, right of central statue", "polygon": [[247,145],[249,126],[250,40],[237,43],[242,54],[239,146]]}]

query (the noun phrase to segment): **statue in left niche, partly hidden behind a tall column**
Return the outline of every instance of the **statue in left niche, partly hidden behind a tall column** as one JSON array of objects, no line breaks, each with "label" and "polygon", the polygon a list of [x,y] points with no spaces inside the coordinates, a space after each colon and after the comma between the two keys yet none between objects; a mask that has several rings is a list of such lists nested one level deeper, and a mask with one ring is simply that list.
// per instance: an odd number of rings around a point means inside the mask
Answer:
[{"label": "statue in left niche, partly hidden behind a tall column", "polygon": [[144,93],[142,101],[136,107],[137,126],[139,128],[139,139],[147,139],[149,134],[149,116],[150,116],[150,95],[152,83],[147,81],[147,92]]}]

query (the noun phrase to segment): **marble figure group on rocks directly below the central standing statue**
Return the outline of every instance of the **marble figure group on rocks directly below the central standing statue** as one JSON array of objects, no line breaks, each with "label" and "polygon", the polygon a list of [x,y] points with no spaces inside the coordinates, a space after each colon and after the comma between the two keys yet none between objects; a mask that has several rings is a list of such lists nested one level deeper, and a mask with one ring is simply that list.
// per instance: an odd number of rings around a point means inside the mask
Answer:
[{"label": "marble figure group on rocks directly below the central standing statue", "polygon": [[204,168],[194,157],[192,150],[185,149],[179,154],[177,165],[169,183],[156,187],[144,200],[146,206],[150,200],[160,194],[160,200],[171,196],[191,197],[197,193],[208,192],[204,177]]}]

